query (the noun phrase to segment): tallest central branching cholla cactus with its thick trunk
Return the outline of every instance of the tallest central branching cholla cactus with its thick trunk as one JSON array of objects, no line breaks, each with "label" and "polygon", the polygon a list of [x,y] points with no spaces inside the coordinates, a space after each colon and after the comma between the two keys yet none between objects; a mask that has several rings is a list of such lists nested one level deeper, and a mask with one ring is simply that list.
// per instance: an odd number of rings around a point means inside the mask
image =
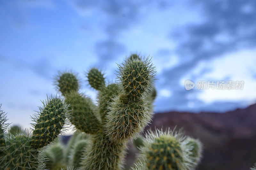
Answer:
[{"label": "tallest central branching cholla cactus with its thick trunk", "polygon": [[[89,84],[99,91],[97,105],[77,89],[61,91],[63,84],[76,83],[61,81],[62,74],[56,77],[57,89],[70,103],[70,122],[76,129],[92,135],[92,145],[87,147],[80,163],[82,169],[121,169],[126,142],[143,130],[152,115],[152,101],[147,96],[156,72],[150,60],[127,58],[118,70],[119,81],[108,86],[99,69],[92,68],[87,73]],[[79,80],[76,74],[73,76]]]}]

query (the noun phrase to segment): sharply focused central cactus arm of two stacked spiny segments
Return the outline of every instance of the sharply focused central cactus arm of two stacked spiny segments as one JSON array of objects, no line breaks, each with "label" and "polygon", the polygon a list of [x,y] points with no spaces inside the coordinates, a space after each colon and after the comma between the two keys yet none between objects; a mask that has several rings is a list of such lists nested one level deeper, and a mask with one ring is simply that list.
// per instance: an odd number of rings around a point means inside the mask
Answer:
[{"label": "sharply focused central cactus arm of two stacked spiny segments", "polygon": [[140,133],[152,116],[151,103],[146,95],[152,89],[155,67],[150,60],[126,59],[119,66],[119,88],[111,103],[105,125],[111,140],[124,141]]}]

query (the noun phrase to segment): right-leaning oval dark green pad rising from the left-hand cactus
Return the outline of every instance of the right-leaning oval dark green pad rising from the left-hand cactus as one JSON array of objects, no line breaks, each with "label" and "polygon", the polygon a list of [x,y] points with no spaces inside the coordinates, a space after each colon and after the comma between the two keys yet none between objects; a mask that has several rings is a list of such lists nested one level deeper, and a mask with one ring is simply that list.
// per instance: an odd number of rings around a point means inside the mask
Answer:
[{"label": "right-leaning oval dark green pad rising from the left-hand cactus", "polygon": [[31,137],[31,145],[34,148],[41,148],[53,141],[64,127],[67,116],[66,105],[59,97],[50,97],[43,101],[43,107],[39,107],[32,124],[35,128]]}]

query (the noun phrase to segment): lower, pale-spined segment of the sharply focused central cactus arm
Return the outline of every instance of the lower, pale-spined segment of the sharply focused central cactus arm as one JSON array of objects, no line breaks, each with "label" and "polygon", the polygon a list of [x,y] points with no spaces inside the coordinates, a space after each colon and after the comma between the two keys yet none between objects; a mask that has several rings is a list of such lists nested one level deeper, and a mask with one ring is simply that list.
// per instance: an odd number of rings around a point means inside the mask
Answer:
[{"label": "lower, pale-spined segment of the sharply focused central cactus arm", "polygon": [[151,118],[147,103],[142,99],[123,103],[120,96],[116,96],[109,108],[105,126],[109,138],[115,141],[126,140],[141,132]]}]

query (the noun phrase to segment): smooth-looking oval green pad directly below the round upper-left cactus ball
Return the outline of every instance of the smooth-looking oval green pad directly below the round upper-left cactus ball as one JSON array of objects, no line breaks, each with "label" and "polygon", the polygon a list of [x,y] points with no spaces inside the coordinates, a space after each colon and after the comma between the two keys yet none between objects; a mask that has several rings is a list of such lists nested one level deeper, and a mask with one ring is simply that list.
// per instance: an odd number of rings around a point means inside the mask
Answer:
[{"label": "smooth-looking oval green pad directly below the round upper-left cactus ball", "polygon": [[85,133],[95,134],[101,128],[101,122],[94,113],[96,106],[92,100],[77,92],[66,95],[66,101],[70,103],[70,122],[76,129]]}]

